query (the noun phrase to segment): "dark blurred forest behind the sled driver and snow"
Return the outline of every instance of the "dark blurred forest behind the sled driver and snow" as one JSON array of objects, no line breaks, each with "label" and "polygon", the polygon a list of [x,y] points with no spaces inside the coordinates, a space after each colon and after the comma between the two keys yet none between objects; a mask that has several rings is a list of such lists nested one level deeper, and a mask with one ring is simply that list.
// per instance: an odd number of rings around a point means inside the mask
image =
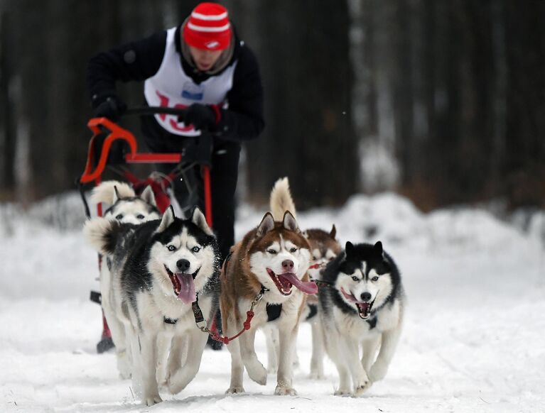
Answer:
[{"label": "dark blurred forest behind the sled driver and snow", "polygon": [[[87,61],[178,25],[195,4],[0,0],[0,201],[75,188],[91,136]],[[222,4],[264,80],[247,201],[288,175],[301,209],[382,190],[423,210],[545,206],[545,1]],[[142,103],[141,85],[119,90]]]}]

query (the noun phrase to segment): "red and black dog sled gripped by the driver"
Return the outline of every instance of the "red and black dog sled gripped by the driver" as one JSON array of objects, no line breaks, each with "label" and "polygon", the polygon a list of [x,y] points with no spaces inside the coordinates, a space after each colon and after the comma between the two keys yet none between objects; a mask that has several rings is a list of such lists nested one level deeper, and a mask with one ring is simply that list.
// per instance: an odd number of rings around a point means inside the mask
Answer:
[{"label": "red and black dog sled gripped by the driver", "polygon": [[[170,114],[178,116],[178,119],[183,120],[185,109],[145,106],[129,109],[123,116],[149,116],[153,114]],[[201,136],[188,138],[194,140],[193,145],[190,145],[190,150],[185,151],[183,155],[181,153],[140,153],[134,135],[117,123],[114,123],[107,118],[93,118],[90,119],[87,126],[90,128],[93,135],[87,150],[85,170],[77,180],[77,187],[80,189],[87,218],[91,217],[91,213],[89,205],[87,204],[87,199],[85,198],[85,185],[99,185],[100,182],[102,182],[102,175],[107,170],[114,172],[115,175],[119,175],[119,177],[128,181],[134,188],[136,194],[140,194],[146,186],[151,185],[153,194],[156,197],[158,210],[162,214],[171,203],[167,189],[168,187],[171,187],[173,180],[184,175],[190,168],[200,165],[203,176],[205,217],[208,226],[212,228],[212,194],[210,189],[212,137],[210,136],[210,133],[203,133]],[[120,148],[119,145],[123,145],[124,149],[128,149],[128,151],[123,153],[123,151],[120,151],[122,148]],[[117,156],[112,156],[112,148],[117,149]],[[128,167],[128,165],[131,164],[158,163],[173,164],[173,169],[166,175],[159,175],[152,172],[149,177],[141,179],[131,172]],[[187,182],[187,180],[185,181]],[[191,188],[188,189],[192,190]],[[97,204],[97,216],[102,216],[102,214],[102,204],[99,203]],[[101,260],[102,257],[99,255],[99,271]],[[93,302],[102,304],[99,292],[92,291],[90,299]],[[113,347],[112,334],[109,331],[103,313],[102,335],[99,343],[97,343],[97,352],[104,353],[104,351]]]}]

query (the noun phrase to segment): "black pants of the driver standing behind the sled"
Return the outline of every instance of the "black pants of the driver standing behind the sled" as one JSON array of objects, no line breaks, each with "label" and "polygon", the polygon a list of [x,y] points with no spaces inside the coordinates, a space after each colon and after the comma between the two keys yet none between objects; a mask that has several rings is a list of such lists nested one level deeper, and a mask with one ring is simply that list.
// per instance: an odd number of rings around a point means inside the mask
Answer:
[{"label": "black pants of the driver standing behind the sled", "polygon": [[[161,136],[151,138],[147,134],[146,144],[152,152],[183,153],[184,148],[192,143],[193,139],[181,136]],[[212,228],[217,235],[222,261],[234,244],[234,210],[236,203],[234,192],[237,189],[240,144],[233,141],[212,139],[212,155],[210,169],[210,187],[212,192]],[[184,160],[182,160],[184,163]],[[190,160],[186,160],[190,162]],[[168,173],[173,165],[158,164],[157,170]],[[200,165],[195,165],[186,172],[185,179],[193,188],[188,192],[185,182],[177,179],[174,182],[174,192],[178,204],[185,206],[197,205],[205,212],[203,176]]]}]

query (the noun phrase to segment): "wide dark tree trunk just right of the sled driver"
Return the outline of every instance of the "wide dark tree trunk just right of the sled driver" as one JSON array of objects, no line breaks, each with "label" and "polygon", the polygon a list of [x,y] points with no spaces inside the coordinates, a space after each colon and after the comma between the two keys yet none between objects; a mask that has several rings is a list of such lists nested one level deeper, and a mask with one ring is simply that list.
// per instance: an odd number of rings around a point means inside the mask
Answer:
[{"label": "wide dark tree trunk just right of the sled driver", "polygon": [[342,204],[358,176],[349,42],[340,30],[350,26],[347,5],[261,6],[267,16],[259,43],[267,125],[248,145],[249,193],[266,202],[274,180],[288,175],[301,209]]}]

